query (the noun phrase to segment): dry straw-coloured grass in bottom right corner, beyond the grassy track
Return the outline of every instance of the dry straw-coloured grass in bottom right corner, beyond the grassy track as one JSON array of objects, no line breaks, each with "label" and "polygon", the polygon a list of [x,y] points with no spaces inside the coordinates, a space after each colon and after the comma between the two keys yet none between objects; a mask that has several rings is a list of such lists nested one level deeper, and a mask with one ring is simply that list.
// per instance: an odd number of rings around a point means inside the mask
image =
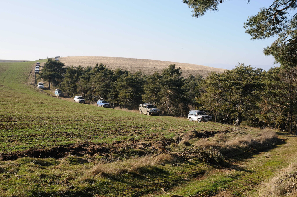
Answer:
[{"label": "dry straw-coloured grass in bottom right corner, beyond the grassy track", "polygon": [[297,197],[296,178],[289,178],[282,181],[289,173],[296,174],[296,171],[297,160],[292,161],[286,168],[280,169],[268,183],[263,183],[258,191],[254,193],[253,197]]}]

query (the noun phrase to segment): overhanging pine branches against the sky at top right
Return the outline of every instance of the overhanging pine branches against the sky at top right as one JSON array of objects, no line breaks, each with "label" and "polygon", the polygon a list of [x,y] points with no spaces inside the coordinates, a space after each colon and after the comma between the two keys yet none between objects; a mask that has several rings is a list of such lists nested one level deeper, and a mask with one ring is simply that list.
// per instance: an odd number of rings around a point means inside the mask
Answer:
[{"label": "overhanging pine branches against the sky at top right", "polygon": [[[200,17],[208,11],[217,11],[226,0],[184,0],[192,8],[193,16]],[[249,0],[248,0],[249,2]],[[251,39],[277,39],[264,48],[265,55],[273,55],[282,66],[296,66],[297,63],[297,0],[273,0],[268,8],[260,8],[257,15],[248,17],[244,23]]]}]

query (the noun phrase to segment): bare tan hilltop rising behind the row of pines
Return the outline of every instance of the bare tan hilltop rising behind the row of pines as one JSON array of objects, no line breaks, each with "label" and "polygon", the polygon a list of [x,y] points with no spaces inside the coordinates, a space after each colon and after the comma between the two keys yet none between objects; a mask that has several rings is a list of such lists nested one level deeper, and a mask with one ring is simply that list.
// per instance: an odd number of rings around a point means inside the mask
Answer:
[{"label": "bare tan hilltop rising behind the row of pines", "polygon": [[62,57],[59,58],[66,66],[95,66],[97,63],[103,63],[110,69],[126,69],[132,73],[142,71],[145,74],[153,74],[162,70],[170,65],[175,64],[176,67],[180,67],[182,76],[188,77],[190,74],[196,76],[201,74],[206,77],[210,72],[222,73],[225,69],[214,68],[209,66],[201,66],[190,63],[179,63],[170,61],[148,60],[148,59],[136,59],[136,58],[116,58],[116,57],[96,57],[96,56],[79,56],[79,57]]}]

